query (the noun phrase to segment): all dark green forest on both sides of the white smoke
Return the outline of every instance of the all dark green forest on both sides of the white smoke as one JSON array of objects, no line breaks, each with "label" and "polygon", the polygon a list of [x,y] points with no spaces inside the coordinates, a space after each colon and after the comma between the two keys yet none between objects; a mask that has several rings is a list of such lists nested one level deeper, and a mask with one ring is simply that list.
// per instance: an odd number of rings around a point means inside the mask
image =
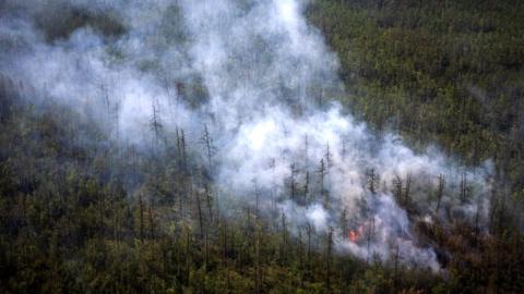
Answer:
[{"label": "all dark green forest on both sides of the white smoke", "polygon": [[[153,155],[117,146],[70,109],[17,101],[1,77],[0,292],[519,293],[522,12],[519,1],[465,0],[319,0],[307,11],[341,58],[350,90],[343,102],[361,119],[398,130],[416,147],[437,140],[466,163],[495,159],[501,183],[489,234],[415,222],[440,248],[442,273],[332,256],[325,235],[314,233],[309,256],[303,232],[301,240],[283,234],[229,198],[221,207],[230,215],[221,215],[200,193],[213,185],[184,148],[168,139]],[[49,28],[49,38],[90,25],[123,33],[112,21],[94,24],[102,16],[74,17]],[[207,95],[196,77],[179,87],[195,106]],[[180,145],[178,130],[170,135]]]}]

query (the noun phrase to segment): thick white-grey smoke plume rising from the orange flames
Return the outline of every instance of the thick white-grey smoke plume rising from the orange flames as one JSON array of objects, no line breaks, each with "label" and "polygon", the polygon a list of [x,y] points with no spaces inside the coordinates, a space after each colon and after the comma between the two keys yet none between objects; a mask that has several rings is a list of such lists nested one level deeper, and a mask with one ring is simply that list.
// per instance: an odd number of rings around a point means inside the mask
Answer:
[{"label": "thick white-grey smoke plume rising from the orange flames", "polygon": [[[344,95],[337,60],[306,23],[303,5],[8,0],[0,7],[0,66],[24,81],[20,91],[31,102],[75,108],[121,144],[148,148],[153,117],[165,136],[186,130],[218,199],[253,204],[257,194],[261,213],[278,211],[295,232],[308,224],[319,234],[333,230],[340,250],[383,260],[396,252],[405,264],[437,270],[434,250],[417,242],[417,220],[394,191],[409,189],[421,221],[471,220],[488,209],[489,164],[474,173],[436,148],[416,154],[330,102]],[[199,147],[203,132],[211,157]],[[344,215],[348,232],[340,225]]]}]

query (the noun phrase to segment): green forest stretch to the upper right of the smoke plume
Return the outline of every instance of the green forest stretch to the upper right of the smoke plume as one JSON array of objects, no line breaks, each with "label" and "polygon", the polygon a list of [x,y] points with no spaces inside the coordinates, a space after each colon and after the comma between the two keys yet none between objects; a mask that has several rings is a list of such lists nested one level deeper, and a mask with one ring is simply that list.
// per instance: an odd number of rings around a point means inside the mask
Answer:
[{"label": "green forest stretch to the upper right of the smoke plume", "polygon": [[522,1],[317,0],[308,16],[341,60],[343,100],[414,146],[495,159],[522,194]]}]

